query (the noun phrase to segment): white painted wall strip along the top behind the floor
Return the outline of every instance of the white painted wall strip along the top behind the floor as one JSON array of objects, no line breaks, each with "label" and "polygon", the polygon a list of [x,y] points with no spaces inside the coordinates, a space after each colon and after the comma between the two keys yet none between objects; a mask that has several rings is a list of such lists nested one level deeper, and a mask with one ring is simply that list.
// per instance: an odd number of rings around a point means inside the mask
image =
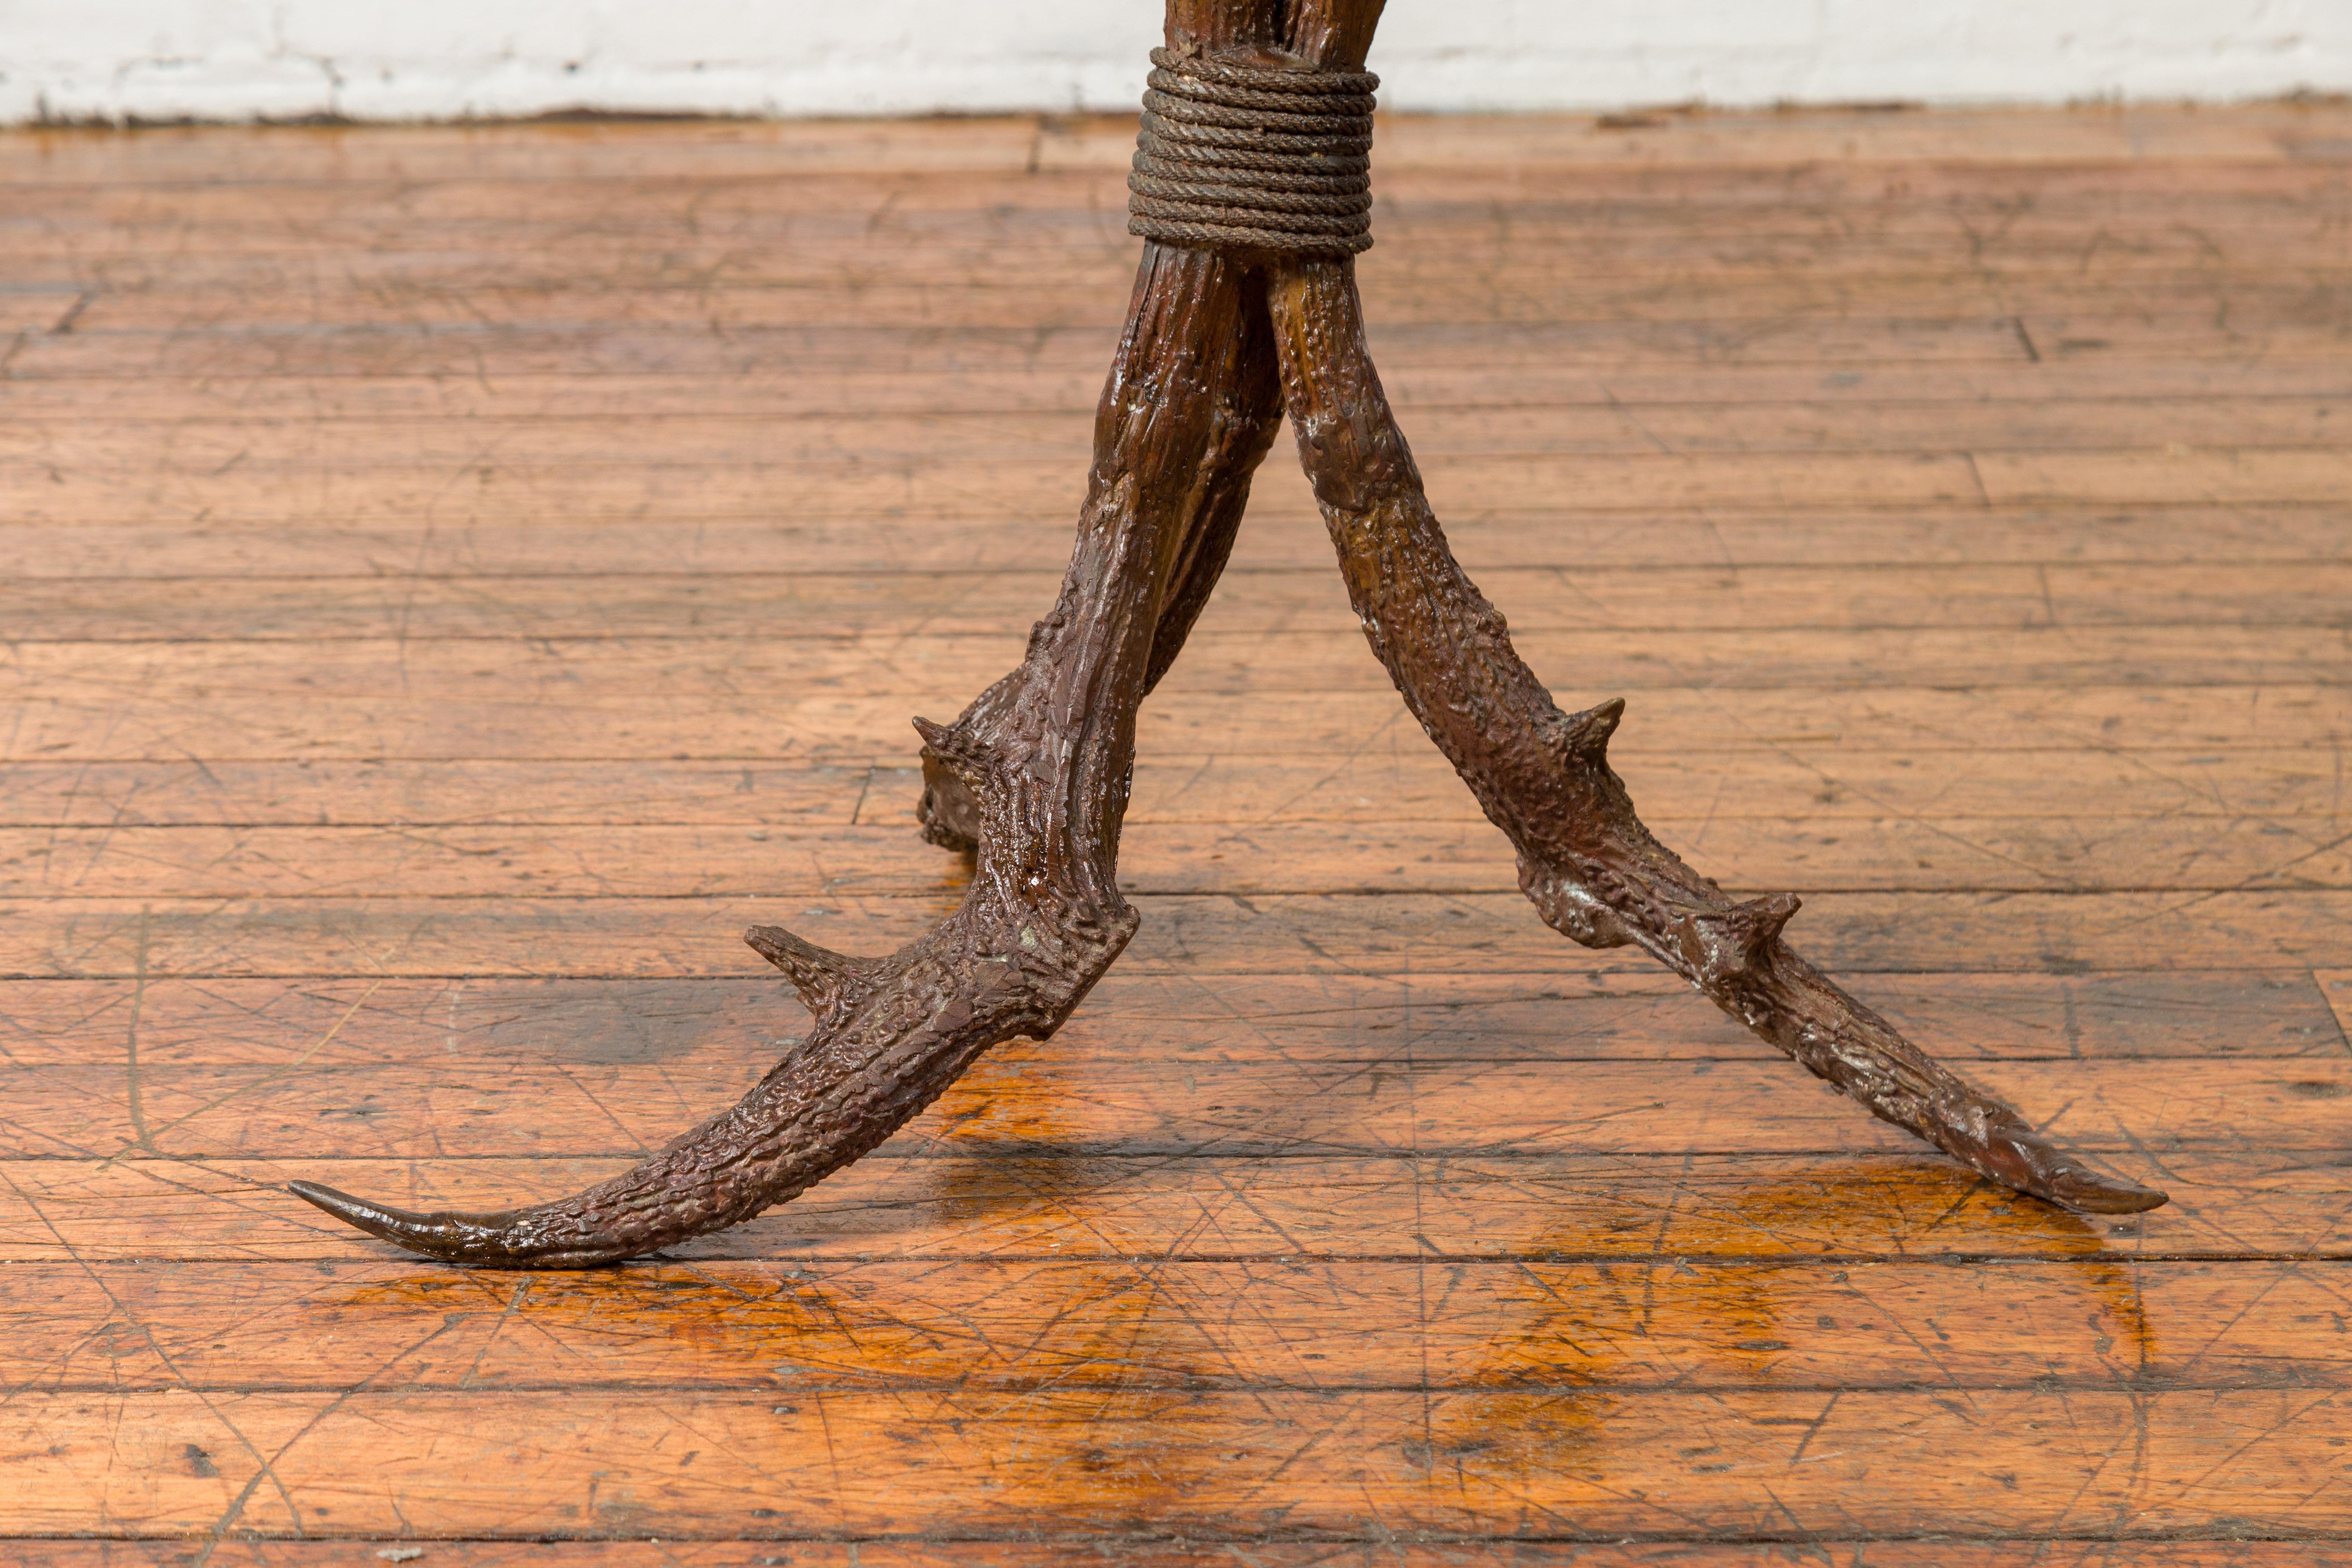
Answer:
[{"label": "white painted wall strip along the top behind the floor", "polygon": [[[1127,108],[1160,0],[0,0],[0,122]],[[1390,0],[1383,103],[2352,89],[2352,0]]]}]

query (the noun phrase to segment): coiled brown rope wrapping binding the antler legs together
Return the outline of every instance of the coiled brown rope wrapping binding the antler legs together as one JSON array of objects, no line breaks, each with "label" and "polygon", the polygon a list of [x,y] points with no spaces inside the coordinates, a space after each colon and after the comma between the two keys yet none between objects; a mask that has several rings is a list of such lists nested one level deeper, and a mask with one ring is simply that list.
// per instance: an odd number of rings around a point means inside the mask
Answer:
[{"label": "coiled brown rope wrapping binding the antler legs together", "polygon": [[1350,256],[1371,247],[1369,71],[1258,71],[1152,49],[1127,233]]}]

